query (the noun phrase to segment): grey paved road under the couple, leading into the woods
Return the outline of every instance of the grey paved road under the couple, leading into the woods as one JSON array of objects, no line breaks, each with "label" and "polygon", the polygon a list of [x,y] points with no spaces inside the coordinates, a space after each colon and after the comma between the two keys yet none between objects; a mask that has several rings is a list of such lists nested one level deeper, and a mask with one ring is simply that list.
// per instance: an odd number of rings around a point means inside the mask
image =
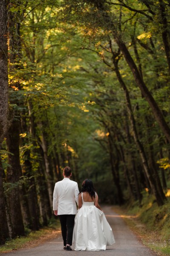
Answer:
[{"label": "grey paved road under the couple, leading into the woods", "polygon": [[65,251],[59,235],[37,247],[0,253],[0,256],[156,256],[138,241],[121,216],[113,212],[110,206],[105,206],[103,209],[115,237],[115,244],[108,246],[106,251]]}]

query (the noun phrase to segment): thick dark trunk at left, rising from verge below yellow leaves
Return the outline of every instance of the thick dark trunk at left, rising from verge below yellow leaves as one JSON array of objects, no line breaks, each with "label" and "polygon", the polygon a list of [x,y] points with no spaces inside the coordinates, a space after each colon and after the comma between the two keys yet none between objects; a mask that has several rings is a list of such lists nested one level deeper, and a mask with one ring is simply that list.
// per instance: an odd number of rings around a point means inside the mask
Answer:
[{"label": "thick dark trunk at left, rising from verge below yellow leaves", "polygon": [[7,168],[6,180],[12,183],[10,193],[8,194],[12,225],[14,234],[24,235],[23,216],[20,206],[20,153],[19,153],[19,125],[17,120],[13,120],[12,126],[9,128],[6,143],[9,151],[9,164]]}]

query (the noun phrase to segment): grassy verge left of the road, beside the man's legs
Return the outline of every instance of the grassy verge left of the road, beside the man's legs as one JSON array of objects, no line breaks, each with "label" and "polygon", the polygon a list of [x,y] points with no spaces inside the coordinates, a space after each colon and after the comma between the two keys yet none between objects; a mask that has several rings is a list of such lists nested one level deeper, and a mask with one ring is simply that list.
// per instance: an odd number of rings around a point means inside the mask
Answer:
[{"label": "grassy verge left of the road, beside the man's legs", "polygon": [[10,239],[6,241],[5,244],[1,245],[0,253],[37,246],[47,239],[56,237],[56,235],[58,235],[58,233],[61,231],[59,221],[52,218],[48,227],[41,228],[35,232],[30,232],[29,230],[26,230],[26,232],[28,233],[26,236]]}]

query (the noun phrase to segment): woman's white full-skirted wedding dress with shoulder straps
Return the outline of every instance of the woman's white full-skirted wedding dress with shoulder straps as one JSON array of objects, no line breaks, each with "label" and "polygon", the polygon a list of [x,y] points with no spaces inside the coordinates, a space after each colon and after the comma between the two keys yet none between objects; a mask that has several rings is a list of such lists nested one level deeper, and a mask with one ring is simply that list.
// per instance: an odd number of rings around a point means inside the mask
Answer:
[{"label": "woman's white full-skirted wedding dress with shoulder straps", "polygon": [[75,216],[73,230],[74,250],[106,250],[107,245],[115,243],[112,229],[104,213],[95,207],[95,202],[84,202]]}]

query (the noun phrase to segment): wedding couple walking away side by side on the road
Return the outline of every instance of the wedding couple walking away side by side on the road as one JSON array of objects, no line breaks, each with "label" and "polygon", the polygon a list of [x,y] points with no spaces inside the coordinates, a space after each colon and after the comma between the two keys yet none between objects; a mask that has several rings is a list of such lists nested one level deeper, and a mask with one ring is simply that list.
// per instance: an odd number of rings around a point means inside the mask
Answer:
[{"label": "wedding couple walking away side by side on the road", "polygon": [[71,176],[71,168],[65,167],[64,179],[55,183],[53,194],[53,210],[61,222],[63,249],[72,250],[70,246],[74,244],[74,250],[106,250],[106,246],[115,243],[115,239],[98,204],[93,183],[85,179],[79,192],[78,184],[70,180]]}]

